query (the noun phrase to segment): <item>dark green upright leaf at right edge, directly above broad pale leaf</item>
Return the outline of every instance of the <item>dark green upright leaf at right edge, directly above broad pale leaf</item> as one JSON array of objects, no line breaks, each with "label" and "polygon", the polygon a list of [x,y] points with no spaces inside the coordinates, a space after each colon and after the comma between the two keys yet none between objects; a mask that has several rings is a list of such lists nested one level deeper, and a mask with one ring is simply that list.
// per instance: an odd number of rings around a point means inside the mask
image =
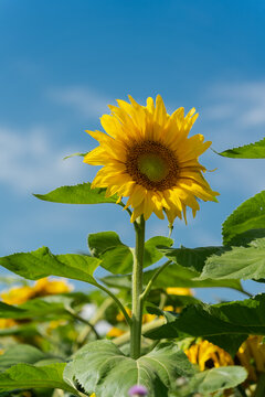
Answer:
[{"label": "dark green upright leaf at right edge, directly above broad pale leaf", "polygon": [[250,233],[257,237],[255,229],[261,228],[265,228],[265,191],[246,200],[227,217],[223,223],[223,243],[224,245],[240,245],[239,240],[233,240],[237,235],[254,229]]}]

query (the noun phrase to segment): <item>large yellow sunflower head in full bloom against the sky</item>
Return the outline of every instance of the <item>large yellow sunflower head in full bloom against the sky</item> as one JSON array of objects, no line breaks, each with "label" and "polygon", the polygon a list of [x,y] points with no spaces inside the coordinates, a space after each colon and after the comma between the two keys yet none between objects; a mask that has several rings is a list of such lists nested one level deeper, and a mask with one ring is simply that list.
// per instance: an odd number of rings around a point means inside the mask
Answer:
[{"label": "large yellow sunflower head in full bloom against the sky", "polygon": [[132,208],[131,222],[144,215],[147,221],[155,213],[163,219],[166,212],[170,224],[174,218],[187,222],[187,206],[193,216],[198,198],[216,201],[204,180],[205,168],[198,161],[211,144],[202,135],[188,138],[198,114],[184,109],[167,114],[158,95],[141,106],[129,96],[130,104],[117,100],[109,106],[112,114],[100,118],[107,133],[86,131],[99,146],[88,152],[84,162],[104,165],[96,174],[92,187],[107,187],[106,196],[117,194],[118,202],[128,197],[126,208]]}]

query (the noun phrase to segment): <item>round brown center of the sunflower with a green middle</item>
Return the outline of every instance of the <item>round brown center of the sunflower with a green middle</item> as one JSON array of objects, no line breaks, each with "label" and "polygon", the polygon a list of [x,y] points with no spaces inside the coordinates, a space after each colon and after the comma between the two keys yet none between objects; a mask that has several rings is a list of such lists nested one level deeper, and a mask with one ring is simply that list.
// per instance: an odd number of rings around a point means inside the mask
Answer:
[{"label": "round brown center of the sunflower with a green middle", "polygon": [[155,191],[172,187],[179,176],[174,153],[151,140],[137,142],[128,148],[126,170],[138,184]]}]

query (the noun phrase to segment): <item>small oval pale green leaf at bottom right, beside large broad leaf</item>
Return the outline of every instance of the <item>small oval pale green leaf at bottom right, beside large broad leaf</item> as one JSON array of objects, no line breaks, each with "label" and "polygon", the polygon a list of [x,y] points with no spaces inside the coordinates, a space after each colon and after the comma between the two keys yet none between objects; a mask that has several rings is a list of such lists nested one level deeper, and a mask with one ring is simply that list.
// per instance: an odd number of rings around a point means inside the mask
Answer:
[{"label": "small oval pale green leaf at bottom right, beside large broad leaf", "polygon": [[193,376],[189,384],[191,393],[213,393],[235,387],[247,377],[245,368],[239,365],[212,368]]}]

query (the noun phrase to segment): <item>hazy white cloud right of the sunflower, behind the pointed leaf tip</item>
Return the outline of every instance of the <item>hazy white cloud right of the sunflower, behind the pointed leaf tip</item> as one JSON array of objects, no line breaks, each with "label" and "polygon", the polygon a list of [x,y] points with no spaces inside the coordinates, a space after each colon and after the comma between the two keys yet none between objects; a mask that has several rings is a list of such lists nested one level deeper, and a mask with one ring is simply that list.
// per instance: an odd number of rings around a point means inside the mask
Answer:
[{"label": "hazy white cloud right of the sunflower, behind the pointed leaf tip", "polygon": [[[265,81],[219,83],[205,94],[197,131],[205,135],[219,152],[252,143],[265,133]],[[203,105],[203,104],[202,104]],[[201,129],[201,130],[200,130]],[[265,187],[264,161],[205,154],[209,168],[218,168],[208,180],[220,193],[254,195]],[[202,159],[202,163],[203,163]]]}]

